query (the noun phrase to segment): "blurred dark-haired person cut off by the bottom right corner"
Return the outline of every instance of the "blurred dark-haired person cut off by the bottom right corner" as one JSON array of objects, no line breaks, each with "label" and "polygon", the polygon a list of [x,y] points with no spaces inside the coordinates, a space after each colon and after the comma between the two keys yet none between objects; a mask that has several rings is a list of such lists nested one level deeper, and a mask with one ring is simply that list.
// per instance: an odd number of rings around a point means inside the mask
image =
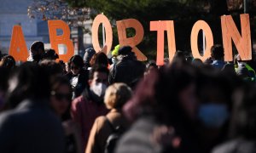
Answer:
[{"label": "blurred dark-haired person cut off by the bottom right corner", "polygon": [[212,153],[256,152],[256,88],[247,83],[236,91],[230,119],[230,136]]}]

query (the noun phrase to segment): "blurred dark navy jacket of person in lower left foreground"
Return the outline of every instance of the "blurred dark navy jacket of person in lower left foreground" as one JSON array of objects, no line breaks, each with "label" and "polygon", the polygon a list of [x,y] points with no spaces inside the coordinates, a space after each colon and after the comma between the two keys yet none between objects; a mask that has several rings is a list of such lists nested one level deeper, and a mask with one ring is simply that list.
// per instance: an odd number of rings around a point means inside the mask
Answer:
[{"label": "blurred dark navy jacket of person in lower left foreground", "polygon": [[46,102],[25,100],[0,115],[0,152],[63,153],[61,121]]}]

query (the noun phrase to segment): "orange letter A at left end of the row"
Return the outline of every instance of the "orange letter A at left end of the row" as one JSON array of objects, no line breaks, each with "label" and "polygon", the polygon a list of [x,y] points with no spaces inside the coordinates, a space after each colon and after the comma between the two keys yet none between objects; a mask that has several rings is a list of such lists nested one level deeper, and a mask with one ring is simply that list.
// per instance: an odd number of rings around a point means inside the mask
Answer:
[{"label": "orange letter A at left end of the row", "polygon": [[29,56],[21,26],[13,27],[13,33],[9,45],[9,54],[12,55],[16,61],[26,61]]}]

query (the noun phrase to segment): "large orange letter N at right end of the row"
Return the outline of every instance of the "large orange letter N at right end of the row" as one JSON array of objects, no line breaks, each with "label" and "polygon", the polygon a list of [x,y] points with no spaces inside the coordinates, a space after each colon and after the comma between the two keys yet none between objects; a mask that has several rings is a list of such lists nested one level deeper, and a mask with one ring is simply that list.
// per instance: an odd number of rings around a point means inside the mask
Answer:
[{"label": "large orange letter N at right end of the row", "polygon": [[252,59],[252,44],[249,14],[240,14],[241,35],[236,28],[236,24],[230,15],[221,16],[221,28],[224,45],[224,59],[233,60],[232,40],[235,43],[238,54],[242,60]]}]

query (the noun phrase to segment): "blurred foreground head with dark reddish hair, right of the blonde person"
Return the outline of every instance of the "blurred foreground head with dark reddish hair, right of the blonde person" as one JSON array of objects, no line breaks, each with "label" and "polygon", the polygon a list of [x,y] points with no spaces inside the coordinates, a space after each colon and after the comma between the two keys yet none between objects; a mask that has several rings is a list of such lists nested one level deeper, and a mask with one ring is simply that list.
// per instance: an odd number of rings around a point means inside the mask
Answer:
[{"label": "blurred foreground head with dark reddish hair, right of the blonde person", "polygon": [[174,125],[195,118],[195,107],[194,68],[179,62],[146,76],[124,111],[131,120],[146,111],[158,122]]}]

